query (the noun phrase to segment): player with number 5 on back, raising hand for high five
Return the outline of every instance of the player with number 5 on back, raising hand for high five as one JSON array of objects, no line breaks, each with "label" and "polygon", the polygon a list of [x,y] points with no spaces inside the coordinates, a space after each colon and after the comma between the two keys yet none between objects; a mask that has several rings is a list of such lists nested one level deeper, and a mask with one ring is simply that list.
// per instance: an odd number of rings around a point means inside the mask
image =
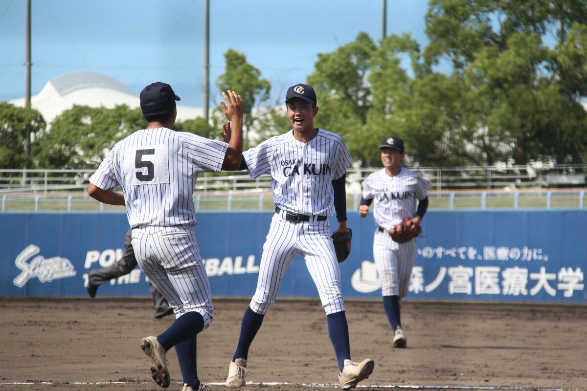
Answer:
[{"label": "player with number 5 on back, raising hand for high five", "polygon": [[[175,312],[176,321],[166,331],[141,339],[152,361],[151,377],[164,388],[170,383],[165,356],[172,346],[183,391],[205,387],[197,375],[196,342],[212,321],[213,307],[193,230],[194,184],[200,172],[237,169],[242,156],[242,99],[234,91],[222,96],[222,110],[231,121],[224,124],[231,134],[228,144],[171,130],[180,98],[169,84],[146,86],[140,106],[147,128],[114,145],[87,189],[100,202],[126,206],[139,266]],[[122,194],[112,190],[118,186]]]}]

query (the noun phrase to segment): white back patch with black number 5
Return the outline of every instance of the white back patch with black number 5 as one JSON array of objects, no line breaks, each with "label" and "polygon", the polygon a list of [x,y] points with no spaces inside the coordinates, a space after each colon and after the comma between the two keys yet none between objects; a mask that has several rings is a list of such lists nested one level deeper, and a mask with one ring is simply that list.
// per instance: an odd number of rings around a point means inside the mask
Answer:
[{"label": "white back patch with black number 5", "polygon": [[124,149],[124,182],[129,186],[169,183],[167,145]]}]

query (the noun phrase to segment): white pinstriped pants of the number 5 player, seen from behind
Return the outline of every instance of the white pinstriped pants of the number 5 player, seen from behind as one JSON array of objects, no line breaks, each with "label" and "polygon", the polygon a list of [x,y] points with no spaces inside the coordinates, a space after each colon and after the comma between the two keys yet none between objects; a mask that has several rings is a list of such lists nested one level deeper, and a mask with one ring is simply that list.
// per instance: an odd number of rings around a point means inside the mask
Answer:
[{"label": "white pinstriped pants of the number 5 player, seen from behind", "polygon": [[133,228],[133,249],[141,270],[173,307],[176,318],[195,311],[212,321],[210,283],[192,227]]}]

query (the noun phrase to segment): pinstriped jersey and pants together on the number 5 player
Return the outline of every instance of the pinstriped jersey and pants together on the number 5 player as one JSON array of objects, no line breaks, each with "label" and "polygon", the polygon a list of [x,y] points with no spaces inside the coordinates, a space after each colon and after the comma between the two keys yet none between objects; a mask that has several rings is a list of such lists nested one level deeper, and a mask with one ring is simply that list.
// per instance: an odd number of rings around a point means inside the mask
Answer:
[{"label": "pinstriped jersey and pants together on the number 5 player", "polygon": [[198,312],[204,328],[214,307],[193,230],[192,197],[198,174],[220,171],[227,147],[167,128],[139,130],[117,142],[90,178],[103,190],[120,186],[141,270],[176,318]]}]

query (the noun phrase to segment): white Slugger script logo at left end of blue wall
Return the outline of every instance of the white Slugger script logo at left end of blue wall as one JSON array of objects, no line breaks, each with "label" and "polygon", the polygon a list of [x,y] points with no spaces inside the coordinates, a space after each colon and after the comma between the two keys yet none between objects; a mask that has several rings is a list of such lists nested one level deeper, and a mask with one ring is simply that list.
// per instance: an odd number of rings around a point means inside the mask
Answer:
[{"label": "white Slugger script logo at left end of blue wall", "polygon": [[26,249],[22,250],[16,257],[16,267],[22,270],[12,282],[19,288],[22,288],[31,278],[39,278],[42,283],[48,283],[58,278],[73,277],[76,275],[75,268],[69,259],[62,257],[45,258],[43,256],[34,257],[29,263],[31,257],[41,251],[34,244],[29,244]]}]

